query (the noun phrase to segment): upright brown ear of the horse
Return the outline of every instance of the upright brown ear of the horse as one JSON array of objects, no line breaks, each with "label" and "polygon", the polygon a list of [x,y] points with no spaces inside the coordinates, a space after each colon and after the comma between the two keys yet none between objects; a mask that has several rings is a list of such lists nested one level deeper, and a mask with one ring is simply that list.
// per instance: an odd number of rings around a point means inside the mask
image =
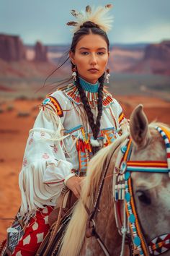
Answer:
[{"label": "upright brown ear of the horse", "polygon": [[149,140],[148,119],[141,104],[135,107],[130,116],[130,135],[138,148],[145,147]]}]

